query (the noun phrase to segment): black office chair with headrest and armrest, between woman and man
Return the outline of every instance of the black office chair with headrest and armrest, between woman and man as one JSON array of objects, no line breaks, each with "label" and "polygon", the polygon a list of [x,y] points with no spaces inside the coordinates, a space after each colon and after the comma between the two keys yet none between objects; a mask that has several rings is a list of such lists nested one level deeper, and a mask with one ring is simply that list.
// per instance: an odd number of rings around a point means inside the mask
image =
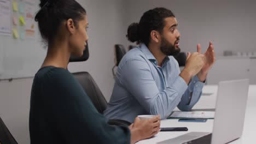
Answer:
[{"label": "black office chair with headrest and armrest, between woman and man", "polygon": [[[71,56],[69,58],[69,62],[84,62],[88,58],[89,58],[89,49],[87,44],[86,49],[84,50],[83,56],[82,57]],[[80,85],[82,85],[82,87],[84,88],[84,91],[90,97],[92,103],[94,104],[98,112],[103,114],[104,110],[106,110],[107,108],[107,101],[104,98],[104,95],[102,94],[100,88],[98,88],[92,76],[86,71],[72,73],[72,74],[74,75],[75,79],[78,80]],[[127,122],[121,119],[110,119],[108,123],[112,125],[126,125],[126,126],[131,124],[130,122]]]}]

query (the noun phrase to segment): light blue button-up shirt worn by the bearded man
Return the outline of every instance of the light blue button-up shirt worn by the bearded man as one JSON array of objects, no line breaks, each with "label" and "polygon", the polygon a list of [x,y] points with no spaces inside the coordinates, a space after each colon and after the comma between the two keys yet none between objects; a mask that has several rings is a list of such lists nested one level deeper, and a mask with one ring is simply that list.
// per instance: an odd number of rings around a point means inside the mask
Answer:
[{"label": "light blue button-up shirt worn by the bearded man", "polygon": [[[108,119],[133,122],[138,115],[161,115],[167,118],[178,106],[190,111],[199,100],[203,82],[194,76],[189,85],[173,56],[162,67],[144,44],[133,48],[119,63],[115,85],[104,115]],[[193,95],[190,99],[190,95]]]}]

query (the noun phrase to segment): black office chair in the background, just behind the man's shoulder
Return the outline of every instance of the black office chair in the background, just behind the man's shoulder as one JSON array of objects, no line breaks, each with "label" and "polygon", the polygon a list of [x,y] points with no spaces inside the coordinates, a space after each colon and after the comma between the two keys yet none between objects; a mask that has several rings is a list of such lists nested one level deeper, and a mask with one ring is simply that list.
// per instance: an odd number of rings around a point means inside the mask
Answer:
[{"label": "black office chair in the background, just behind the man's shoulder", "polygon": [[115,68],[118,67],[118,64],[120,63],[121,59],[124,57],[126,53],[125,47],[121,44],[115,44],[114,53],[115,53],[115,65],[112,68],[112,74],[115,77]]}]

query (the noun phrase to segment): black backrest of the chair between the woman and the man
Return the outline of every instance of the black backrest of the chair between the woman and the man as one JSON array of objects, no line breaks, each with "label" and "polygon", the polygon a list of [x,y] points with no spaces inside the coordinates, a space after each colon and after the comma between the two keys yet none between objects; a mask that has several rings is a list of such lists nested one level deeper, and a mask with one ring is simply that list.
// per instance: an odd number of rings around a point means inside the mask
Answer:
[{"label": "black backrest of the chair between the woman and the man", "polygon": [[86,71],[73,73],[73,75],[80,85],[82,85],[98,112],[103,114],[107,108],[107,101],[91,75]]}]

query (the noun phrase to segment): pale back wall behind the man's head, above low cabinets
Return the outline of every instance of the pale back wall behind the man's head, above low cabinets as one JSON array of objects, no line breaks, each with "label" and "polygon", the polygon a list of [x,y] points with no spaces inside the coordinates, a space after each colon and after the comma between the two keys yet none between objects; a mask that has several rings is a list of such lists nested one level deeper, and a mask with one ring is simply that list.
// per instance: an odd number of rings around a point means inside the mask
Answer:
[{"label": "pale back wall behind the man's head, above low cabinets", "polygon": [[246,0],[130,0],[126,1],[127,22],[138,22],[142,14],[155,7],[171,9],[176,15],[181,32],[182,51],[196,51],[200,43],[202,51],[212,40],[217,55],[224,50],[256,51],[256,1]]}]

